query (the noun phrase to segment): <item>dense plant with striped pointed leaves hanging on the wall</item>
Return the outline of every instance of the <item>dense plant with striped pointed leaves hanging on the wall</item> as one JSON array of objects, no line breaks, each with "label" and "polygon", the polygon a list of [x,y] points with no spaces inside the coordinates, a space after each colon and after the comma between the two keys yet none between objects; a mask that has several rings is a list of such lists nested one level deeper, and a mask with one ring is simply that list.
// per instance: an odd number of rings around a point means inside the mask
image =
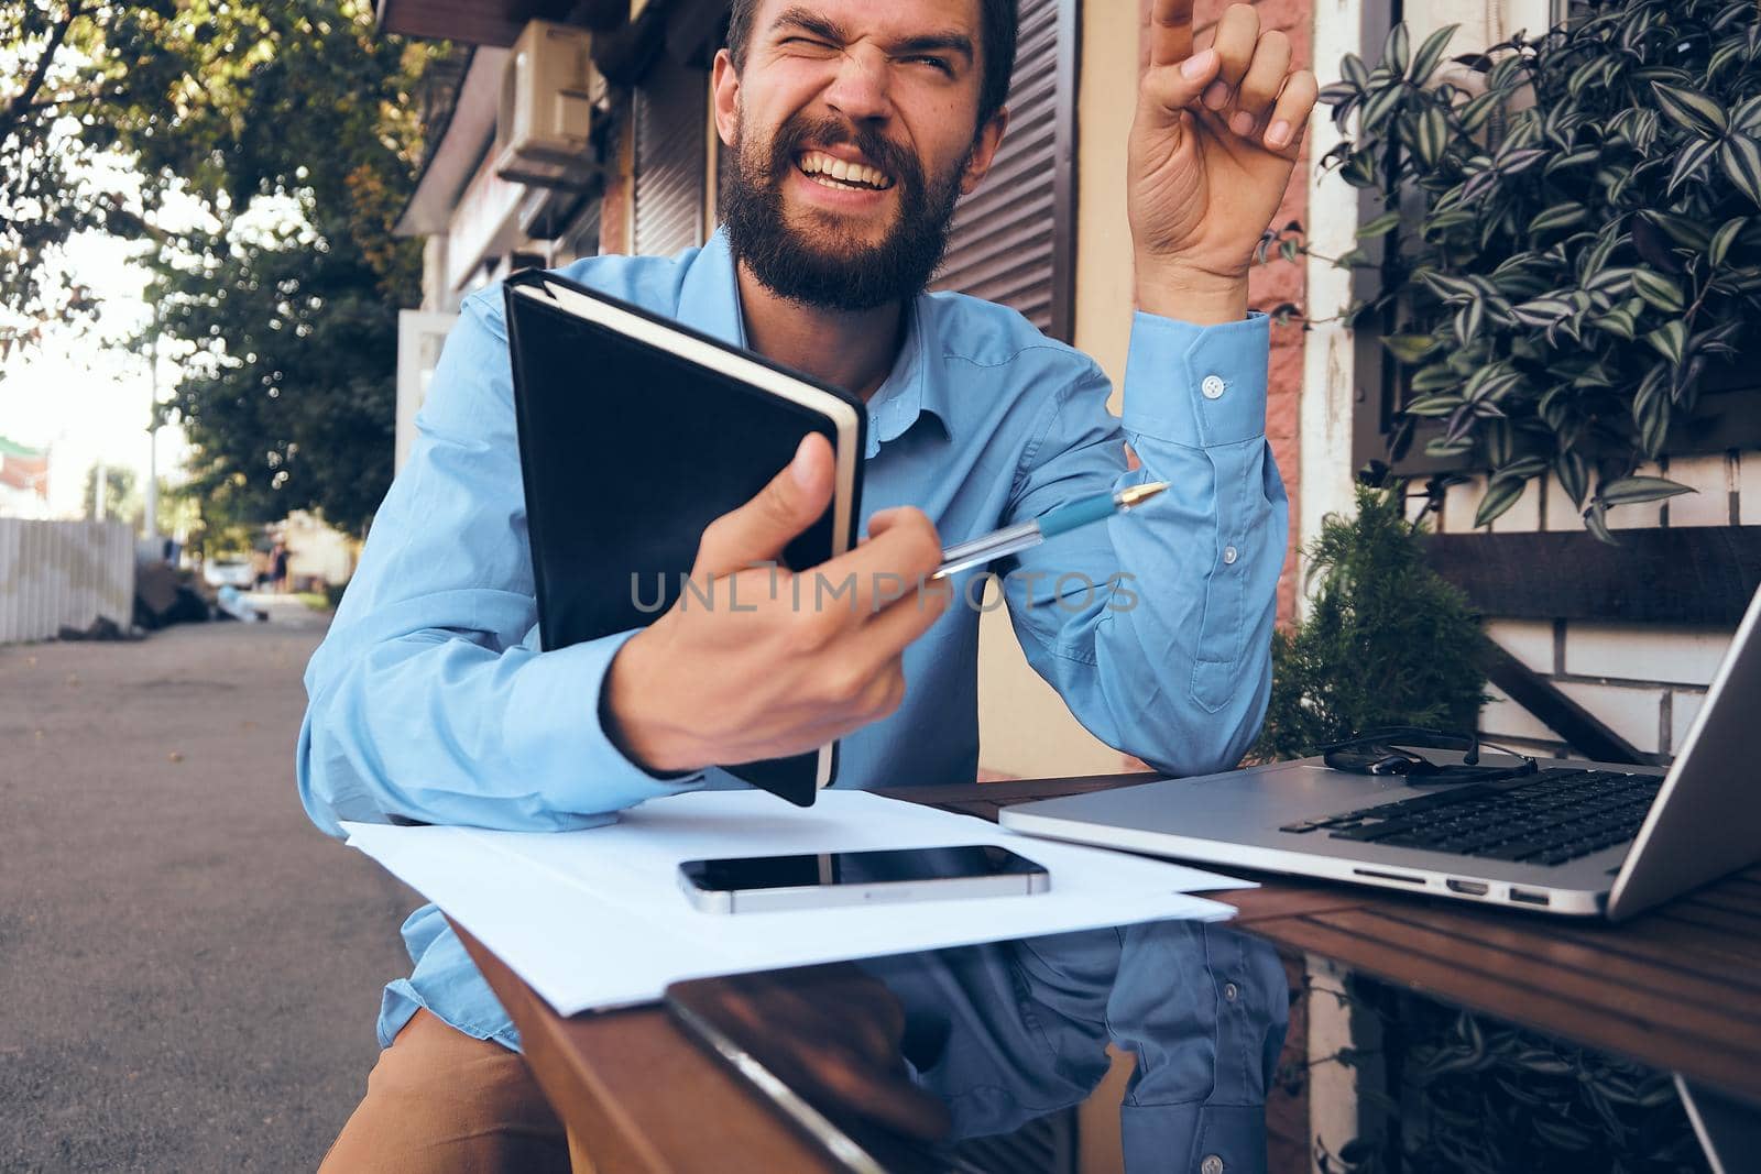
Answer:
[{"label": "dense plant with striped pointed leaves hanging on the wall", "polygon": [[1687,491],[1634,473],[1756,343],[1761,9],[1597,0],[1472,69],[1451,32],[1414,51],[1400,25],[1323,92],[1349,132],[1326,162],[1389,209],[1342,260],[1382,252],[1352,320],[1407,368],[1393,451],[1490,470],[1479,525],[1551,472],[1610,540],[1608,509]]}]

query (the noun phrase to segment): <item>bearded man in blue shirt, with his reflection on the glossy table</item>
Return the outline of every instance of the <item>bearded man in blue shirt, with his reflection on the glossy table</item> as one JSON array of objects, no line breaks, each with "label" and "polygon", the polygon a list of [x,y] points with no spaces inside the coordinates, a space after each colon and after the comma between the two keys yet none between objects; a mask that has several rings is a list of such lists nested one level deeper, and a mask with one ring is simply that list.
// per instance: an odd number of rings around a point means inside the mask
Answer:
[{"label": "bearded man in blue shirt, with his reflection on the glossy table", "polygon": [[[734,0],[713,72],[733,150],[722,229],[673,259],[564,269],[866,401],[865,505],[882,509],[866,542],[821,569],[829,581],[923,583],[942,535],[1171,482],[1129,519],[998,570],[1028,660],[1071,711],[1175,774],[1233,766],[1264,715],[1287,507],[1264,440],[1268,326],[1247,310],[1247,269],[1315,100],[1314,76],[1293,70],[1289,40],[1261,32],[1252,7],[1231,7],[1203,51],[1190,9],[1153,0],[1146,16],[1125,174],[1138,313],[1122,421],[1083,354],[1011,310],[923,292],[954,202],[1004,136],[1013,0]],[[979,616],[960,590],[815,613],[754,584],[741,591],[752,611],[674,609],[637,632],[539,649],[500,290],[465,301],[417,426],[306,671],[298,769],[322,829],[592,827],[713,785],[711,764],[831,737],[844,739],[840,787],[974,778]],[[1127,472],[1127,442],[1141,470]],[[666,468],[664,449],[653,459]],[[704,532],[692,574],[768,576],[752,565],[777,558],[829,495],[831,451],[810,437]],[[1072,604],[1053,595],[1065,576],[1115,586]],[[326,1169],[567,1169],[518,1035],[446,921],[417,910],[403,938],[414,973],[386,989],[384,1053]],[[1111,1035],[1139,1060],[1125,1116],[1134,1167],[1264,1162],[1263,1098],[1284,1033],[1282,972],[1264,947],[1164,922],[965,958],[947,982],[891,977],[907,1010],[940,1016],[937,1038],[1013,1056],[1007,1074],[917,1063],[956,1102],[1014,1088],[963,1121],[956,1111],[967,1132],[1014,1123],[1004,1102],[1079,1098]],[[889,977],[884,963],[875,972]],[[998,1000],[1020,1005],[997,1014]],[[1092,1056],[1043,1054],[1060,1030]]]}]

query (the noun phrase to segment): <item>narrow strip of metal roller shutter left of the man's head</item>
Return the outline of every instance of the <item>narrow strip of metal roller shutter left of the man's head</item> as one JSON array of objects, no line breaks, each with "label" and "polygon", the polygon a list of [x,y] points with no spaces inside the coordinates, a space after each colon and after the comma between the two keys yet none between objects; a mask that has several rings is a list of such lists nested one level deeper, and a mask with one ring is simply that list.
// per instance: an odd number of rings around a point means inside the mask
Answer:
[{"label": "narrow strip of metal roller shutter left of the man's head", "polygon": [[636,90],[636,252],[703,245],[710,76],[662,58]]}]

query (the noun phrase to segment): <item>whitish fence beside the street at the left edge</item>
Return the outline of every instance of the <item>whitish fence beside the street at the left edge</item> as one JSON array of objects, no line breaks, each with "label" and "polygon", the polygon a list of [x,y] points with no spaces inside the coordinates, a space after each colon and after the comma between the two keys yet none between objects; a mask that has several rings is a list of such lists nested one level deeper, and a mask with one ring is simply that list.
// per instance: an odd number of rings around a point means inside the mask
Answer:
[{"label": "whitish fence beside the street at the left edge", "polygon": [[99,616],[134,616],[134,535],[120,521],[0,517],[0,644],[41,641]]}]

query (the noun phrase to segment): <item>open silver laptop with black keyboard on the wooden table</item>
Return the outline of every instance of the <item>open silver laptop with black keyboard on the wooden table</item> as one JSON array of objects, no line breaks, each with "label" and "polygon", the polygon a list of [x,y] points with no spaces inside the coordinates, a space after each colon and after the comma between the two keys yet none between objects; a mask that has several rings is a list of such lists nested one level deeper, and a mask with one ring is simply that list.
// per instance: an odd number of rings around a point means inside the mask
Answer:
[{"label": "open silver laptop with black keyboard on the wooden table", "polygon": [[1620,921],[1761,859],[1757,628],[1761,591],[1668,773],[1543,759],[1530,774],[1414,787],[1300,759],[1025,803],[1004,808],[1002,824],[1205,864]]}]

